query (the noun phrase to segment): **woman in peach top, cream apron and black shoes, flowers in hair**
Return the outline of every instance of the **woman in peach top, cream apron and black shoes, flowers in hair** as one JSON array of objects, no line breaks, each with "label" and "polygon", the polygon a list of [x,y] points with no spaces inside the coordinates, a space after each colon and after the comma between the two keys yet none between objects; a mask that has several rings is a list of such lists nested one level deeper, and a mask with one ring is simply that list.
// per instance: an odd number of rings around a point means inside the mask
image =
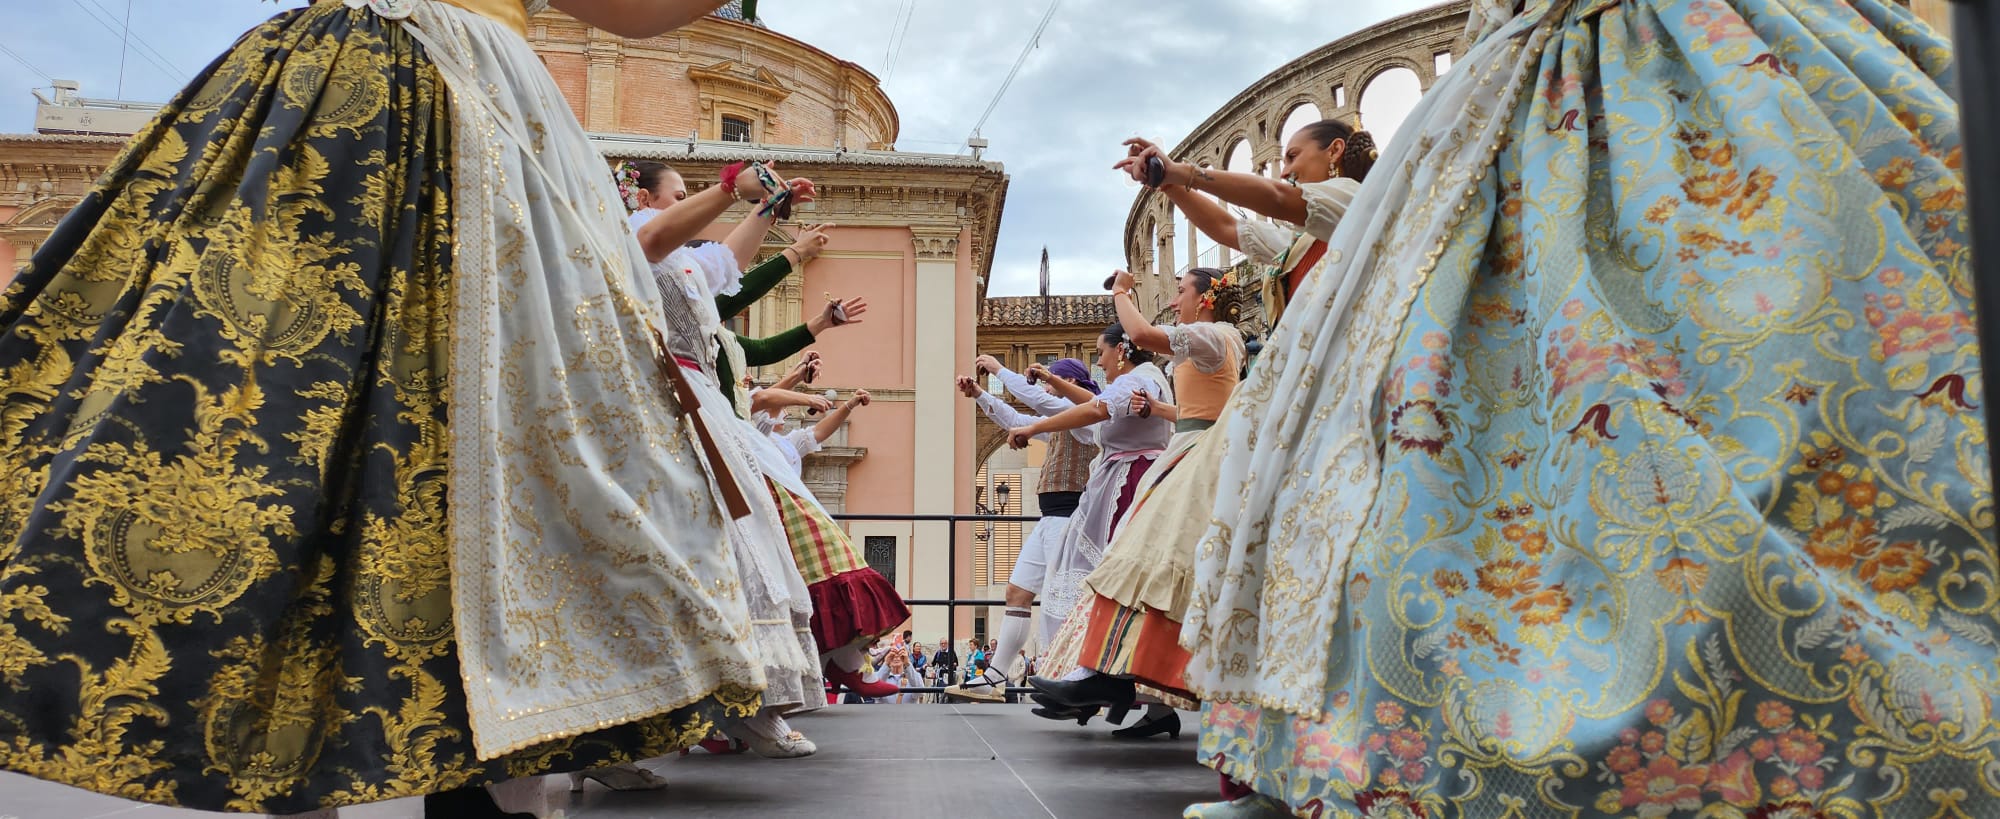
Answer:
[{"label": "woman in peach top, cream apron and black shoes, flowers in hair", "polygon": [[[1072,615],[1076,623],[1070,623],[1082,629],[1082,637],[1048,661],[1050,673],[1058,667],[1072,671],[1060,679],[1030,679],[1058,705],[1072,711],[1108,707],[1116,723],[1138,697],[1134,683],[1192,699],[1184,679],[1188,653],[1180,647],[1180,619],[1194,581],[1194,547],[1208,529],[1204,499],[1216,495],[1216,469],[1214,459],[1190,455],[1202,447],[1202,435],[1222,413],[1244,368],[1244,338],[1234,324],[1244,302],[1242,288],[1228,274],[1194,268],[1182,274],[1174,296],[1180,322],[1156,328],[1132,300],[1132,274],[1120,270],[1114,278],[1118,320],[1138,328],[1132,344],[1172,356],[1176,404],[1162,413],[1176,419],[1174,439],[1140,481],[1104,563],[1084,577],[1088,597]],[[1150,398],[1134,400],[1142,415],[1154,411]],[[1152,705],[1144,723],[1116,733],[1178,737],[1180,715],[1170,705]]]}]

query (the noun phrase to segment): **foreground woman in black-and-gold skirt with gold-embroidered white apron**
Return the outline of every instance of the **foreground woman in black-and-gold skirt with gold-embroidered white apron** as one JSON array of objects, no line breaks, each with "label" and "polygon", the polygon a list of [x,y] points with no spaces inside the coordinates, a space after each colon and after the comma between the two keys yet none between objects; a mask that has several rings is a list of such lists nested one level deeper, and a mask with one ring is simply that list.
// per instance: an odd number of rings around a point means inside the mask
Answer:
[{"label": "foreground woman in black-and-gold skirt with gold-embroidered white apron", "polygon": [[476,817],[764,687],[544,4],[356,6],[238,40],[0,298],[8,769]]}]

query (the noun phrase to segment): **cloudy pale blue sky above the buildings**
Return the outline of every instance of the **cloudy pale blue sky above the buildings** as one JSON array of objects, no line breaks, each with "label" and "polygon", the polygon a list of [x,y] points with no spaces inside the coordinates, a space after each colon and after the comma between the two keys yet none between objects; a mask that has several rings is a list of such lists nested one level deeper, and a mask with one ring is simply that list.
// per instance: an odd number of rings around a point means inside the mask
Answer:
[{"label": "cloudy pale blue sky above the buildings", "polygon": [[[0,132],[34,128],[30,90],[80,80],[164,102],[278,6],[264,0],[0,0]],[[282,6],[296,6],[288,0]],[[1066,0],[982,134],[1012,178],[992,296],[1096,292],[1124,264],[1138,188],[1110,170],[1120,140],[1168,146],[1280,64],[1432,0]],[[902,150],[956,152],[1048,10],[1044,0],[762,0],[764,22],[882,76]],[[908,20],[892,46],[896,20]],[[12,52],[12,54],[8,54]],[[892,62],[894,60],[894,62]],[[32,68],[30,68],[32,66]],[[1370,118],[1370,124],[1376,124]]]}]

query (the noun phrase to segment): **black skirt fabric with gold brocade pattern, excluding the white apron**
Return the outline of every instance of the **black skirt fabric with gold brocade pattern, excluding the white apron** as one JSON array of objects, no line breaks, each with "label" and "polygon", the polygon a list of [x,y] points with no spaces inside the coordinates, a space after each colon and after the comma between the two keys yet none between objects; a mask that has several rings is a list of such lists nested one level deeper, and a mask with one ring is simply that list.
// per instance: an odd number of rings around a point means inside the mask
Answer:
[{"label": "black skirt fabric with gold brocade pattern, excluding the white apron", "polygon": [[476,757],[444,374],[490,272],[454,256],[450,110],[394,24],[280,14],[0,298],[0,767],[298,813],[644,759],[756,707]]}]

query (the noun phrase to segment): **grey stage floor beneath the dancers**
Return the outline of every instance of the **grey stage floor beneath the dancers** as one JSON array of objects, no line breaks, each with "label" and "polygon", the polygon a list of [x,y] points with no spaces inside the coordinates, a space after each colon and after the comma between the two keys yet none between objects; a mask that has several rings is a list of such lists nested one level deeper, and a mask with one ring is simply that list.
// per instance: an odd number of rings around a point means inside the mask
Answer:
[{"label": "grey stage floor beneath the dancers", "polygon": [[[1052,723],[1028,705],[836,705],[796,727],[820,745],[806,759],[754,755],[656,759],[672,785],[568,793],[550,777],[550,807],[566,819],[1094,819],[1178,817],[1216,797],[1214,771],[1194,761],[1196,715],[1180,739],[1122,741],[1102,719]],[[1140,715],[1128,717],[1128,723]],[[202,819],[0,773],[0,819]],[[420,799],[340,811],[342,819],[418,819]]]}]

